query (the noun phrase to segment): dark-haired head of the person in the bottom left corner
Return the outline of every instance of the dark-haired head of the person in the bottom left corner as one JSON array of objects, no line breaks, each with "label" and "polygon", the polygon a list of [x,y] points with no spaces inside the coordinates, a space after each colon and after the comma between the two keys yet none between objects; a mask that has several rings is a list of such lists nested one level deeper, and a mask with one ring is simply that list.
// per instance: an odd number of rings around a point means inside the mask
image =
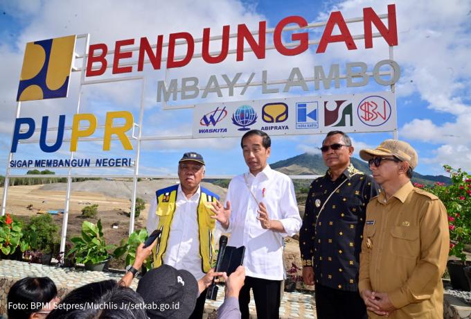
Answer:
[{"label": "dark-haired head of the person in the bottom left corner", "polygon": [[[28,319],[45,316],[43,306],[57,295],[57,288],[49,277],[19,279],[8,291],[8,318]],[[42,305],[42,306],[40,306]]]}]

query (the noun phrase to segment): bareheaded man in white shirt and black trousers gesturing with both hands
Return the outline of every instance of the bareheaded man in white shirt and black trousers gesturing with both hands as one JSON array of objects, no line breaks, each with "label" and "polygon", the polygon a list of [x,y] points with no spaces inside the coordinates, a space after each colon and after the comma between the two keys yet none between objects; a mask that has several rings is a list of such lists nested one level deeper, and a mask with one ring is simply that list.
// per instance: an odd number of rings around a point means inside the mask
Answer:
[{"label": "bareheaded man in white shirt and black trousers gesturing with both hands", "polygon": [[241,141],[249,172],[231,180],[226,207],[213,203],[228,245],[245,245],[245,284],[239,295],[242,318],[249,318],[253,289],[257,318],[279,318],[280,289],[284,279],[283,237],[301,227],[293,183],[287,175],[270,169],[271,140],[267,133],[250,130]]}]

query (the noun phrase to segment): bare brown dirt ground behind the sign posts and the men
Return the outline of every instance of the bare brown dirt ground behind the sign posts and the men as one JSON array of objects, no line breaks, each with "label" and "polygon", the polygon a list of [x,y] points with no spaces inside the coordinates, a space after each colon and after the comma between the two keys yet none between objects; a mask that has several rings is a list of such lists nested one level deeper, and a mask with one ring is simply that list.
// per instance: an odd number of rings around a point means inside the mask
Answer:
[{"label": "bare brown dirt ground behind the sign posts and the men", "polygon": [[[152,181],[154,182],[154,181]],[[165,184],[168,181],[161,181]],[[206,184],[205,187],[211,187],[212,191],[225,198],[226,189],[215,187],[212,184]],[[163,187],[160,183],[144,182],[140,185],[142,189],[158,189]],[[119,245],[122,239],[128,236],[130,225],[130,187],[126,182],[120,184],[116,181],[87,181],[73,183],[71,191],[71,201],[69,207],[69,222],[67,225],[67,238],[80,235],[83,218],[80,211],[87,205],[98,205],[98,216],[89,219],[96,223],[101,218],[103,232],[107,243]],[[74,190],[82,189],[82,190]],[[93,191],[85,191],[90,189]],[[112,189],[112,191],[110,191]],[[0,188],[3,193],[3,188]],[[141,190],[142,198],[145,199],[145,210],[141,216],[136,218],[134,230],[145,227],[150,207],[150,196],[153,191]],[[138,192],[139,196],[139,192]],[[19,216],[22,220],[28,220],[30,216],[36,216],[39,212],[46,213],[48,210],[64,210],[66,199],[66,184],[46,184],[33,186],[13,186],[8,188],[8,197],[6,212]],[[28,208],[29,207],[29,208]],[[46,213],[47,214],[47,213]],[[62,221],[64,214],[52,215],[53,220],[62,230]],[[118,223],[118,229],[114,229],[112,224]],[[301,268],[301,256],[299,253],[299,242],[296,239],[288,238],[285,240],[285,266],[289,270],[292,263]],[[120,266],[119,263],[113,266]],[[124,267],[124,265],[123,265]],[[301,272],[299,272],[299,275]]]}]

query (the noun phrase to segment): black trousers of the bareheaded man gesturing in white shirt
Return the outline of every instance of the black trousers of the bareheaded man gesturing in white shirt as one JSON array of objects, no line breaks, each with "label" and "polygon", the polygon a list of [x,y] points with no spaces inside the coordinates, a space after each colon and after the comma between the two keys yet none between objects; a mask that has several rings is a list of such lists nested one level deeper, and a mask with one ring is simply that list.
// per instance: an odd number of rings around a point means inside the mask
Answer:
[{"label": "black trousers of the bareheaded man gesturing in white shirt", "polygon": [[242,319],[249,319],[250,289],[254,291],[258,319],[280,318],[281,280],[268,280],[245,277],[244,286],[239,293],[239,308]]}]

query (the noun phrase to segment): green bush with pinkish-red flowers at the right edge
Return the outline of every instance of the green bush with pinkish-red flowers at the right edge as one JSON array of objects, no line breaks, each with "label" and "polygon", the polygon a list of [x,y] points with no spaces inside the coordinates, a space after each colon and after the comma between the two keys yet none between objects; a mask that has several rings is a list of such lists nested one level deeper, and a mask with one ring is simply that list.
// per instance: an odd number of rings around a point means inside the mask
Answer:
[{"label": "green bush with pinkish-red flowers at the right edge", "polygon": [[466,255],[463,248],[465,244],[471,243],[471,175],[448,165],[443,165],[443,168],[450,173],[452,184],[436,182],[434,187],[425,189],[438,196],[445,205],[451,241],[449,255],[464,262]]}]

